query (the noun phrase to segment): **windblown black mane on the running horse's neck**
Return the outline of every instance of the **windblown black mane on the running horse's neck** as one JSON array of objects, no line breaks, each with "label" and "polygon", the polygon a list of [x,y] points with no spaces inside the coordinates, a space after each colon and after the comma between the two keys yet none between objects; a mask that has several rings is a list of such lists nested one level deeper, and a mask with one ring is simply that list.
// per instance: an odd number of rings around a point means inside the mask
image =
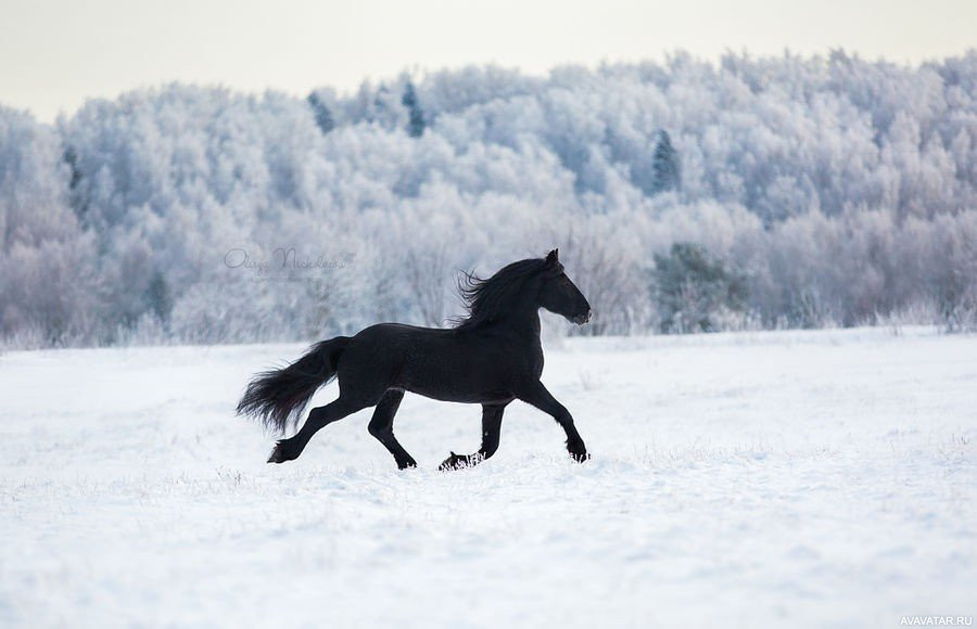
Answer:
[{"label": "windblown black mane on the running horse's neck", "polygon": [[468,316],[453,320],[455,330],[474,328],[511,310],[526,278],[535,275],[545,266],[546,260],[538,258],[519,260],[503,267],[487,280],[462,271],[458,279],[458,292]]}]

